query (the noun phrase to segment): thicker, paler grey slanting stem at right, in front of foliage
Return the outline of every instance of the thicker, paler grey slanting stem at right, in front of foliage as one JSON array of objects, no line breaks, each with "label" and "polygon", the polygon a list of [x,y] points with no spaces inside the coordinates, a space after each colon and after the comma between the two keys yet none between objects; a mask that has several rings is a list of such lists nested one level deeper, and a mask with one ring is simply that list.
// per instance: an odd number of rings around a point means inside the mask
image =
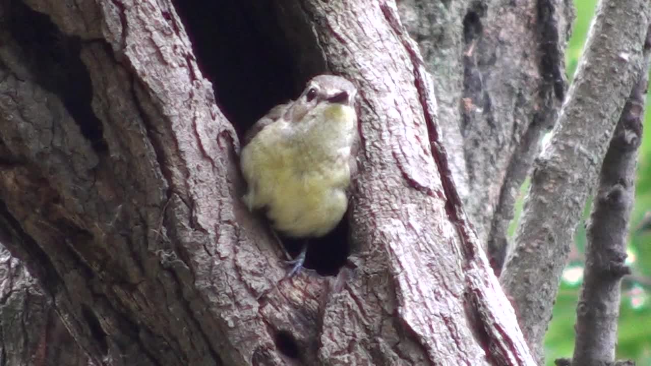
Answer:
[{"label": "thicker, paler grey slanting stem at right, in front of foliage", "polygon": [[534,164],[516,249],[501,283],[538,359],[572,234],[643,70],[649,10],[648,1],[601,1],[551,141]]}]

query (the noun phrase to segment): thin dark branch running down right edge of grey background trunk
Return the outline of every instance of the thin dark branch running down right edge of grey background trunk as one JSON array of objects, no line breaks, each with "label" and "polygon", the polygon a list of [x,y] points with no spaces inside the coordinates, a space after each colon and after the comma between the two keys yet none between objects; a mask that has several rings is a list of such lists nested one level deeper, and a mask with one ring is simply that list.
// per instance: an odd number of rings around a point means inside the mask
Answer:
[{"label": "thin dark branch running down right edge of grey background trunk", "polygon": [[[537,18],[536,27],[532,31],[538,37],[538,52],[534,54],[538,55],[538,73],[543,82],[535,89],[538,98],[536,98],[536,104],[531,106],[531,111],[529,111],[531,117],[515,116],[516,124],[513,125],[512,130],[514,134],[516,131],[519,132],[513,137],[514,141],[518,141],[518,145],[509,154],[510,158],[508,166],[505,168],[499,199],[495,203],[495,212],[492,215],[490,227],[486,228],[488,231],[486,250],[497,277],[501,274],[508,251],[510,240],[507,238],[506,232],[514,216],[514,206],[518,200],[519,188],[529,175],[534,158],[540,153],[541,137],[551,130],[558,119],[567,85],[564,74],[564,54],[570,33],[569,24],[574,20],[574,7],[572,3],[550,0],[537,1],[534,6]],[[497,40],[498,44],[501,44],[501,36]],[[517,49],[517,53],[521,53],[517,44],[514,44],[514,48]],[[502,79],[507,85],[512,83],[512,77],[500,77],[499,79]],[[527,91],[521,92],[527,93]],[[519,93],[514,97],[521,98]],[[520,120],[527,122],[518,124],[521,123]],[[504,128],[507,127],[508,124]]]}]

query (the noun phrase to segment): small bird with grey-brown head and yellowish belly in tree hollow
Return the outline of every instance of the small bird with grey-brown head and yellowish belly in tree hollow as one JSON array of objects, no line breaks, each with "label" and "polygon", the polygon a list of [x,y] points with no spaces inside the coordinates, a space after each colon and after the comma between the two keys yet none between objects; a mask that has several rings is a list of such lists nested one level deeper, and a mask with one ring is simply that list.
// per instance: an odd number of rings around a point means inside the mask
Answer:
[{"label": "small bird with grey-brown head and yellowish belly in tree hollow", "polygon": [[[343,77],[313,77],[298,99],[273,107],[247,132],[240,165],[249,210],[264,209],[292,238],[332,231],[348,208],[357,171],[357,89]],[[307,244],[290,276],[305,262]]]}]

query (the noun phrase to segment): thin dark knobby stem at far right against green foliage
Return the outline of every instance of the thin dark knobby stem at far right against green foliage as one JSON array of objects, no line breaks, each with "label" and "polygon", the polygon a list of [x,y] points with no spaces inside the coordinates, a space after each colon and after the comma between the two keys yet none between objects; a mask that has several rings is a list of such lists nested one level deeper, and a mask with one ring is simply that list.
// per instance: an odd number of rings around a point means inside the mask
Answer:
[{"label": "thin dark knobby stem at far right against green foliage", "polygon": [[587,227],[585,276],[577,305],[574,366],[605,365],[615,361],[621,279],[630,274],[624,261],[635,198],[637,152],[642,141],[650,48],[651,28],[648,28],[643,72],[615,128],[592,204]]}]

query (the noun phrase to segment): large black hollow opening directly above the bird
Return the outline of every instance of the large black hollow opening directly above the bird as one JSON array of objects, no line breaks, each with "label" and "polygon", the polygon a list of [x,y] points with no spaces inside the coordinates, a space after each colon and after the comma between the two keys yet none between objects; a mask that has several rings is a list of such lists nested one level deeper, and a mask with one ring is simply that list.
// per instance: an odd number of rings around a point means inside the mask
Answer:
[{"label": "large black hollow opening directly above the bird", "polygon": [[271,107],[296,98],[309,76],[299,76],[296,54],[281,29],[273,1],[174,0],[201,72],[213,83],[219,109],[240,137]]}]

